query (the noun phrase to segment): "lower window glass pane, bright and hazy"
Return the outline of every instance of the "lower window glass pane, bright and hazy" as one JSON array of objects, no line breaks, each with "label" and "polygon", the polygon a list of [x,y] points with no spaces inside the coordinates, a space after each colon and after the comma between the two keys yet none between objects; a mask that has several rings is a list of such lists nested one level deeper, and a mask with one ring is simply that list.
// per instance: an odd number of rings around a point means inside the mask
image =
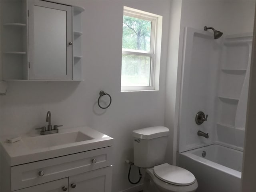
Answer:
[{"label": "lower window glass pane, bright and hazy", "polygon": [[122,54],[121,86],[150,86],[151,57]]}]

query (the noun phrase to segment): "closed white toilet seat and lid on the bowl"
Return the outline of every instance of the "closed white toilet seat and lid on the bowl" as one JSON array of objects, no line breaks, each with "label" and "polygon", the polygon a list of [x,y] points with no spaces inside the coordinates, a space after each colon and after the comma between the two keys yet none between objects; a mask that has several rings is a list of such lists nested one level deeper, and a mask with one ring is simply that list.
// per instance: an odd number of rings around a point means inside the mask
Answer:
[{"label": "closed white toilet seat and lid on the bowl", "polygon": [[196,181],[188,170],[164,163],[154,167],[154,175],[160,180],[177,186],[188,186]]}]

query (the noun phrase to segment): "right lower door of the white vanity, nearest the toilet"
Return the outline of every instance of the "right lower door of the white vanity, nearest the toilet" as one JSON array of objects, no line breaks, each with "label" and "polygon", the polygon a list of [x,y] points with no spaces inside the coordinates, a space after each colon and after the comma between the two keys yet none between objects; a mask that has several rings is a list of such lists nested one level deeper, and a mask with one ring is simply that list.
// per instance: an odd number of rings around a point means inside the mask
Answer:
[{"label": "right lower door of the white vanity, nearest the toilet", "polygon": [[69,192],[111,192],[112,166],[69,177]]}]

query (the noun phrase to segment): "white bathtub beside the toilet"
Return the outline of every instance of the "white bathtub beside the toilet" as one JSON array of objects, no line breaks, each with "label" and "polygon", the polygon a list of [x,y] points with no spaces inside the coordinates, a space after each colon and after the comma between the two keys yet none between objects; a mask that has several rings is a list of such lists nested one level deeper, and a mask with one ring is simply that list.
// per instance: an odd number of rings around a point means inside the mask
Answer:
[{"label": "white bathtub beside the toilet", "polygon": [[242,160],[243,152],[217,144],[177,152],[177,166],[192,172],[198,181],[196,192],[241,192]]}]

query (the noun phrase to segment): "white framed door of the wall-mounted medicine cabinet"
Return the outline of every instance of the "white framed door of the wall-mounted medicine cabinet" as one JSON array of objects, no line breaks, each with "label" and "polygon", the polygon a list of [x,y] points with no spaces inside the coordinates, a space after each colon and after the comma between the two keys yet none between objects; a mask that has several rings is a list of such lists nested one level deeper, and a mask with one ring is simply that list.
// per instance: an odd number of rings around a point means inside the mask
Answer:
[{"label": "white framed door of the wall-mounted medicine cabinet", "polygon": [[28,1],[29,79],[72,79],[72,7]]}]

